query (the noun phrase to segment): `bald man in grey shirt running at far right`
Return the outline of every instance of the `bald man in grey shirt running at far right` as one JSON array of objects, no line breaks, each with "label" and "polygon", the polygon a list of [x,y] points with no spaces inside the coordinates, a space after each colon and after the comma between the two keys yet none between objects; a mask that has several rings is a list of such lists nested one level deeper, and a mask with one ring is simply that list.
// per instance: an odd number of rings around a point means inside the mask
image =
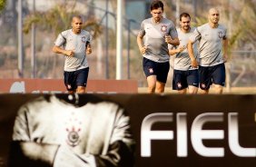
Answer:
[{"label": "bald man in grey shirt running at far right", "polygon": [[[192,66],[198,64],[194,58],[192,44],[199,41],[199,81],[202,93],[209,93],[214,84],[215,93],[222,93],[225,85],[225,65],[227,61],[227,29],[219,25],[220,12],[216,8],[209,10],[209,23],[199,26],[190,37],[188,51]],[[223,52],[222,52],[223,45]]]}]

